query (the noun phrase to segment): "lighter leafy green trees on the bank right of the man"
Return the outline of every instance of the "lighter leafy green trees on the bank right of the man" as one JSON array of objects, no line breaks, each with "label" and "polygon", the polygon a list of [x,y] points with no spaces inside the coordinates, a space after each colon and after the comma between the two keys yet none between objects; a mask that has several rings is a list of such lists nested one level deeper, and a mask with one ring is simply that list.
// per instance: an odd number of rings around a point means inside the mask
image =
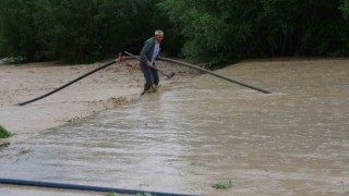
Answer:
[{"label": "lighter leafy green trees on the bank right of the man", "polygon": [[164,0],[183,54],[222,63],[242,58],[348,54],[347,0]]}]

